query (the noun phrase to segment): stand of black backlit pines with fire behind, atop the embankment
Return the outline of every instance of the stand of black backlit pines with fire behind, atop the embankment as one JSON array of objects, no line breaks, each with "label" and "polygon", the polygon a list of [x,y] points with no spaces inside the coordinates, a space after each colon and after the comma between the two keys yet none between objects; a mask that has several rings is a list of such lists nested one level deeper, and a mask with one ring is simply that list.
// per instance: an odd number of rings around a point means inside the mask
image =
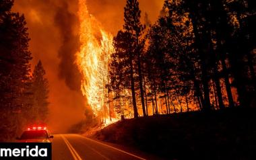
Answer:
[{"label": "stand of black backlit pines with fire behind, atop the embankment", "polygon": [[146,14],[144,25],[139,1],[127,0],[109,63],[109,106],[123,118],[255,106],[255,6],[165,1],[158,21]]}]

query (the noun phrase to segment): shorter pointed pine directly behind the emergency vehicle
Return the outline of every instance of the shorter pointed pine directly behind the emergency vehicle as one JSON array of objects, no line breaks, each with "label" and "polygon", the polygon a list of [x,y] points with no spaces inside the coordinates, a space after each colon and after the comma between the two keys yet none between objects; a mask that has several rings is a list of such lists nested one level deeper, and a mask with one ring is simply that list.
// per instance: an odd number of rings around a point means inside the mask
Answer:
[{"label": "shorter pointed pine directly behind the emergency vehicle", "polygon": [[36,116],[35,120],[40,123],[45,123],[49,114],[49,82],[44,76],[44,68],[42,67],[41,61],[38,61],[38,64],[34,68],[32,80],[32,90],[34,93],[32,113]]}]

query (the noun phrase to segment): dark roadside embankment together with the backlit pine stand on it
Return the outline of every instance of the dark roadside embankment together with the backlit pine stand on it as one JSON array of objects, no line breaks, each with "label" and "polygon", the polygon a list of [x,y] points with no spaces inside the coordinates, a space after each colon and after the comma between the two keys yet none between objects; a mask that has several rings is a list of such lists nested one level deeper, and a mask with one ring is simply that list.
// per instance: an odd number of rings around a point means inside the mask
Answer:
[{"label": "dark roadside embankment together with the backlit pine stand on it", "polygon": [[[256,3],[166,0],[151,24],[127,0],[93,135],[167,159],[255,159]],[[106,114],[104,114],[106,118]]]}]

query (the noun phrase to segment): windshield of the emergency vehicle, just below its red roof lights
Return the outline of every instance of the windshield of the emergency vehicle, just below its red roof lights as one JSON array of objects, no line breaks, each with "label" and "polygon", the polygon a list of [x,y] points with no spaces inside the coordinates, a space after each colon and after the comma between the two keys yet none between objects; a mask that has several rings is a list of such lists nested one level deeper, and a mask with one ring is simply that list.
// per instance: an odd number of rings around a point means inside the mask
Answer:
[{"label": "windshield of the emergency vehicle, just below its red roof lights", "polygon": [[23,132],[21,139],[49,138],[46,130],[26,130]]}]

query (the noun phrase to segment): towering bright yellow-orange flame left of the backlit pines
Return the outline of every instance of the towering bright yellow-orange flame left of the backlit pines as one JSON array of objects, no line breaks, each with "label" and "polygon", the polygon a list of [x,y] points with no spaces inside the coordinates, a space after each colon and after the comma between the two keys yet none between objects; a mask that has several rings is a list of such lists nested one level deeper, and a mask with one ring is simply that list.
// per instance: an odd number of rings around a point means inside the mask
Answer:
[{"label": "towering bright yellow-orange flame left of the backlit pines", "polygon": [[113,36],[88,13],[86,0],[79,0],[79,38],[81,47],[76,64],[82,73],[82,93],[94,114],[104,110],[107,103],[108,58],[114,52]]}]

